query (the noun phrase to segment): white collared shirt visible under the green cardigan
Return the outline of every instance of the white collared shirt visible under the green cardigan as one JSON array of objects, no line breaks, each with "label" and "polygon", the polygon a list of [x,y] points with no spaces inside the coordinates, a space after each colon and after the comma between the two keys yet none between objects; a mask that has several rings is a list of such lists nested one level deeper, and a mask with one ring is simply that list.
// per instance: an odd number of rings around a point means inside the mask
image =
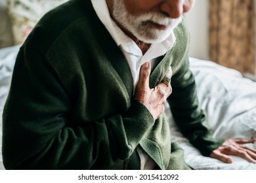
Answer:
[{"label": "white collared shirt visible under the green cardigan", "polygon": [[[117,46],[123,52],[131,74],[133,76],[133,87],[137,86],[139,81],[140,67],[143,63],[150,61],[152,69],[156,67],[159,61],[159,57],[163,56],[168,50],[170,50],[175,44],[175,35],[172,32],[171,35],[163,42],[151,44],[148,51],[143,55],[139,46],[116,25],[116,23],[110,17],[110,12],[106,4],[106,0],[91,0],[95,12],[106,29],[108,29],[110,35],[113,37]],[[151,159],[140,146],[137,147],[137,152],[140,156],[140,169],[154,169],[156,163]]]}]

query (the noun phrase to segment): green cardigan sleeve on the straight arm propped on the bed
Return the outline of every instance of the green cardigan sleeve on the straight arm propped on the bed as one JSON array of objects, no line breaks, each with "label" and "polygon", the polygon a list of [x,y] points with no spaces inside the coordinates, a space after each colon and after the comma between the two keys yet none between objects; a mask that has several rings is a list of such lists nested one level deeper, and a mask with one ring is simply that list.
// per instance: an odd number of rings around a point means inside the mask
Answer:
[{"label": "green cardigan sleeve on the straight arm propped on the bed", "polygon": [[203,156],[209,156],[223,144],[224,140],[213,138],[205,111],[200,108],[198,102],[196,82],[189,69],[188,56],[182,62],[181,68],[173,75],[171,82],[173,93],[168,99],[171,112],[182,134]]}]

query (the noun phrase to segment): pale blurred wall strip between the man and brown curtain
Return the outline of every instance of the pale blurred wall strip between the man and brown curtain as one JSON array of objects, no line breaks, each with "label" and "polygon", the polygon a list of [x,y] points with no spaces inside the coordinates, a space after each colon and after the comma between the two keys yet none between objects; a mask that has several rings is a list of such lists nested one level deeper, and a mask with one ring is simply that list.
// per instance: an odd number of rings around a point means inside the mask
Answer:
[{"label": "pale blurred wall strip between the man and brown curtain", "polygon": [[[256,9],[256,0],[255,0]],[[194,8],[185,14],[191,34],[190,56],[209,59],[208,46],[208,1],[196,0]],[[255,15],[256,16],[256,15]],[[256,33],[256,32],[255,32]],[[256,37],[255,37],[256,42]],[[256,51],[256,50],[255,50]],[[255,58],[256,61],[256,58]],[[256,68],[255,68],[256,73]],[[256,74],[255,74],[256,75]]]}]

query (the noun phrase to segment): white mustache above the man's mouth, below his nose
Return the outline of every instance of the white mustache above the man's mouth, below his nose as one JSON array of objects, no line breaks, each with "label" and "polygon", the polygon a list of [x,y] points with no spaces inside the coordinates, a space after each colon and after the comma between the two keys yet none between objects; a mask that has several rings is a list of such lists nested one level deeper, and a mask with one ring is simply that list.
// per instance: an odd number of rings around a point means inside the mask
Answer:
[{"label": "white mustache above the man's mouth, below his nose", "polygon": [[147,12],[145,14],[137,16],[136,19],[139,20],[140,22],[150,21],[160,25],[171,25],[171,24],[174,24],[175,22],[179,22],[181,20],[181,17],[169,18],[165,14],[162,14],[160,12]]}]

